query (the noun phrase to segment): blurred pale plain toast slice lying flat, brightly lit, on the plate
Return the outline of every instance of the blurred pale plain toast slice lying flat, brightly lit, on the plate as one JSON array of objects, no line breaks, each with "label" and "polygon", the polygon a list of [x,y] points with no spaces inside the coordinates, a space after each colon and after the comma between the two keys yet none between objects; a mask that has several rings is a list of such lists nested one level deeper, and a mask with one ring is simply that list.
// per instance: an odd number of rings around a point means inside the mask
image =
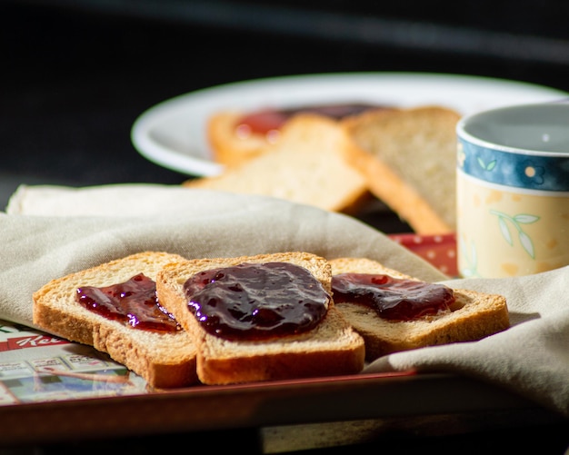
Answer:
[{"label": "blurred pale plain toast slice lying flat, brightly lit, on the plate", "polygon": [[361,173],[345,162],[349,143],[334,120],[295,115],[278,143],[219,175],[183,183],[188,188],[261,194],[331,212],[354,213],[368,197]]}]

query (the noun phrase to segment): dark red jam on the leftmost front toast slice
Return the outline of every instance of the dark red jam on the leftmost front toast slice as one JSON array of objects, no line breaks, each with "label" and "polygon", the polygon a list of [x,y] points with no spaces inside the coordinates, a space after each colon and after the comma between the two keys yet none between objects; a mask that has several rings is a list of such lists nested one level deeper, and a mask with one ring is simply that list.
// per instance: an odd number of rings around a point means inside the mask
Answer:
[{"label": "dark red jam on the leftmost front toast slice", "polygon": [[80,287],[76,291],[75,300],[91,312],[124,322],[135,329],[182,330],[175,317],[158,302],[156,283],[144,273],[111,286]]}]

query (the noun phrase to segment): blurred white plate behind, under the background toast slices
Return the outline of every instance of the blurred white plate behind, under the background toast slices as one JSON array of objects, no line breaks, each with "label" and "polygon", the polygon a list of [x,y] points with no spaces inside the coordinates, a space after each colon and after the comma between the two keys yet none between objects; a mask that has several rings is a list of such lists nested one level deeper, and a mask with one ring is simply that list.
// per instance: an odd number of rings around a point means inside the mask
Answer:
[{"label": "blurred white plate behind, under the background toast slices", "polygon": [[215,175],[205,136],[208,117],[225,109],[302,107],[310,104],[438,104],[472,114],[508,104],[546,102],[568,94],[541,85],[455,75],[354,73],[296,75],[218,85],[176,96],[145,111],[131,139],[146,159],[180,173]]}]

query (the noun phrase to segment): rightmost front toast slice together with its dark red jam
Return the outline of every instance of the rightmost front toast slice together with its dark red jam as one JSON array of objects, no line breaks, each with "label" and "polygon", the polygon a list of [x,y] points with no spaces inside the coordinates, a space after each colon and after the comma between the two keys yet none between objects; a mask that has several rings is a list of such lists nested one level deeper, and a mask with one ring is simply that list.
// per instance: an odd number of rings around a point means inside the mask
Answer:
[{"label": "rightmost front toast slice together with its dark red jam", "polygon": [[421,282],[366,258],[337,258],[334,304],[365,340],[366,360],[457,341],[510,326],[504,296]]}]

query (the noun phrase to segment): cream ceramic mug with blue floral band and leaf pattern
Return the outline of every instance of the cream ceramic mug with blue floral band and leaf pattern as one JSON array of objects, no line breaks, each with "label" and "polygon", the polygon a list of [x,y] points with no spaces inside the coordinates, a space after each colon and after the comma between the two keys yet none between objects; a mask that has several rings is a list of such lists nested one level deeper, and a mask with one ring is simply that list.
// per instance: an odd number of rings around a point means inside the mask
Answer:
[{"label": "cream ceramic mug with blue floral band and leaf pattern", "polygon": [[463,277],[569,264],[569,104],[524,104],[456,127],[457,260]]}]

